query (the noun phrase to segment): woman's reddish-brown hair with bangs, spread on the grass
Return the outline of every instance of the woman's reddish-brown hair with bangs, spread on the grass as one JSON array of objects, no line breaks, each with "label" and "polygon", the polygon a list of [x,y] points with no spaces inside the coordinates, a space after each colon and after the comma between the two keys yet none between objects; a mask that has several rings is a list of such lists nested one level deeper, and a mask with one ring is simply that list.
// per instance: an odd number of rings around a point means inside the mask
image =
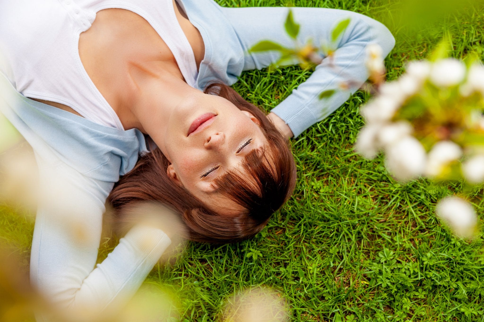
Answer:
[{"label": "woman's reddish-brown hair with bangs, spread on the grass", "polygon": [[[114,220],[125,224],[134,204],[158,201],[181,215],[187,238],[200,242],[237,242],[256,235],[294,190],[296,167],[288,140],[255,105],[244,100],[225,84],[207,86],[207,94],[226,98],[241,111],[252,113],[259,121],[268,145],[247,154],[242,168],[249,175],[227,171],[214,181],[217,191],[244,210],[233,216],[210,209],[188,190],[168,178],[169,165],[159,148],[142,155],[135,168],[124,175],[108,196],[115,210]],[[252,177],[252,180],[247,178]]]}]

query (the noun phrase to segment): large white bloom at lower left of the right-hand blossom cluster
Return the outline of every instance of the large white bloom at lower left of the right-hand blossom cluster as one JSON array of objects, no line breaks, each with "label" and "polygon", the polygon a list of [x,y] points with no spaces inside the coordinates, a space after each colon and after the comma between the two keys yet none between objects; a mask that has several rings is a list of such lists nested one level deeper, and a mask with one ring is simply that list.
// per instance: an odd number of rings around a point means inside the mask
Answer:
[{"label": "large white bloom at lower left of the right-hand blossom cluster", "polygon": [[386,167],[397,180],[408,181],[422,175],[425,161],[425,149],[414,137],[407,136],[387,148]]}]

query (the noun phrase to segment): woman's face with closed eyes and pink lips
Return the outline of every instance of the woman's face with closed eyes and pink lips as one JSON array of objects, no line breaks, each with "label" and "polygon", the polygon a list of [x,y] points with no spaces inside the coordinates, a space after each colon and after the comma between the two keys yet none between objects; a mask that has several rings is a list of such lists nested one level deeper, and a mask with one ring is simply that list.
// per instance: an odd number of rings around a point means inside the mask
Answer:
[{"label": "woman's face with closed eyes and pink lips", "polygon": [[225,98],[200,92],[173,110],[161,140],[157,144],[171,163],[167,174],[172,180],[217,212],[241,210],[216,193],[212,182],[228,169],[242,170],[244,156],[267,144],[254,115]]}]

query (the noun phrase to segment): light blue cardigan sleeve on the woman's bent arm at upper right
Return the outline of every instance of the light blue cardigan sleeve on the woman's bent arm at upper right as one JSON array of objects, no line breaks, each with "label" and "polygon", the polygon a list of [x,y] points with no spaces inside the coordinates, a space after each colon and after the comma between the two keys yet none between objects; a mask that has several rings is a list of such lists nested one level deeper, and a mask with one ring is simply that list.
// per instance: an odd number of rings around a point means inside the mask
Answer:
[{"label": "light blue cardigan sleeve on the woman's bent arm at upper right", "polygon": [[[287,47],[294,42],[284,29],[288,8],[250,7],[221,8],[238,35],[245,51],[243,70],[262,69],[278,60],[278,52],[248,53],[247,50],[262,40],[272,40]],[[326,8],[291,8],[294,19],[301,25],[297,41],[312,39],[320,47],[331,39],[334,26],[350,18],[350,24],[335,44],[333,60],[325,58],[302,84],[292,91],[271,112],[291,128],[297,137],[309,126],[321,121],[340,107],[368,78],[365,67],[365,47],[370,43],[381,46],[383,55],[392,50],[395,40],[391,32],[378,21],[363,14]],[[297,64],[293,59],[285,65]],[[351,81],[349,90],[338,90],[341,83]],[[324,90],[336,90],[328,99],[319,100]]]}]

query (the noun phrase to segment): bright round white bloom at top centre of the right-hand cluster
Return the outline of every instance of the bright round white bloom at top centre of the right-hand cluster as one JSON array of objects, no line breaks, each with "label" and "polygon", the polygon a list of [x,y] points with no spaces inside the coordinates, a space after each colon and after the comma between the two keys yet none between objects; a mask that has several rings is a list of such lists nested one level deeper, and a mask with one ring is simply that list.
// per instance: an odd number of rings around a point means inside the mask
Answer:
[{"label": "bright round white bloom at top centre of the right-hand cluster", "polygon": [[454,86],[466,75],[465,65],[455,58],[441,59],[432,65],[430,81],[440,87]]}]

